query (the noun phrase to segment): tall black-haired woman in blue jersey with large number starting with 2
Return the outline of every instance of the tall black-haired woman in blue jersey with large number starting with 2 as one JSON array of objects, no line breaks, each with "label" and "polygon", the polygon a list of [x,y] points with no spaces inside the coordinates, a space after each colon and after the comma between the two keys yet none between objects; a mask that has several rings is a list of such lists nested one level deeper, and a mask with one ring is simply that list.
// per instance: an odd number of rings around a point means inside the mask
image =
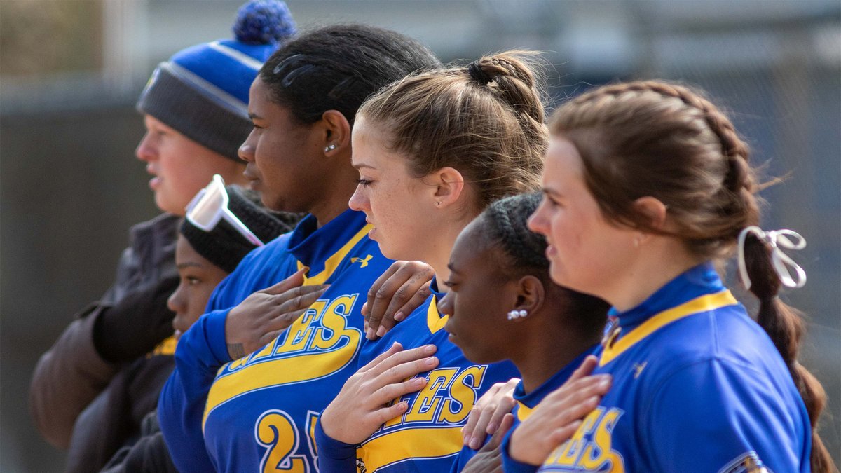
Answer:
[{"label": "tall black-haired woman in blue jersey with large number starting with 2", "polygon": [[[368,95],[439,65],[393,31],[335,25],[290,40],[262,66],[240,148],[246,178],[268,208],[309,215],[251,252],[182,335],[158,411],[178,470],[315,468],[315,415],[355,369],[360,307],[392,263],[368,239],[365,215],[347,209],[351,127]],[[299,298],[278,297],[294,279],[302,294],[330,288],[289,316],[284,306]]]}]

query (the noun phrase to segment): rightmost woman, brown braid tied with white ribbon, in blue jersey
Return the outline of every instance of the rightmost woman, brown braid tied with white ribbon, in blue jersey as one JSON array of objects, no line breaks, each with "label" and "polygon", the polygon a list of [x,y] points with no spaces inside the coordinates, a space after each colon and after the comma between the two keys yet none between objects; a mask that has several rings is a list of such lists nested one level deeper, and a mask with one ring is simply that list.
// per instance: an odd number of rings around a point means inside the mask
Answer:
[{"label": "rightmost woman, brown braid tied with white ribbon, in blue jersey", "polygon": [[[796,238],[756,227],[760,186],[727,116],[688,88],[631,82],[550,126],[530,227],[555,282],[613,306],[595,369],[612,387],[551,454],[530,418],[510,456],[542,471],[832,470],[815,434],[825,396],[797,363],[803,322],[777,296],[805,282],[778,260]],[[758,323],[713,266],[737,249]]]}]

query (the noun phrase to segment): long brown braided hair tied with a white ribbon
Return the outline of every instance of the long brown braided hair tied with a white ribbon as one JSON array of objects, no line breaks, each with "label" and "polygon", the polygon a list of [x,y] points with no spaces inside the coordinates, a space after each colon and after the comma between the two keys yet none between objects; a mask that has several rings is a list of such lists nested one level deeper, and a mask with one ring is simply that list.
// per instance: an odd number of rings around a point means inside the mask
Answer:
[{"label": "long brown braided hair tied with a white ribbon", "polygon": [[[559,107],[550,129],[579,151],[584,183],[609,221],[677,237],[703,259],[731,255],[743,228],[759,224],[760,186],[748,146],[698,91],[660,81],[597,88]],[[654,228],[637,212],[634,202],[643,196],[666,205],[671,230]],[[802,318],[777,297],[770,248],[754,235],[746,240],[745,262],[759,299],[757,322],[780,351],[809,413],[812,470],[829,470],[832,460],[817,436],[826,394],[797,363]]]}]

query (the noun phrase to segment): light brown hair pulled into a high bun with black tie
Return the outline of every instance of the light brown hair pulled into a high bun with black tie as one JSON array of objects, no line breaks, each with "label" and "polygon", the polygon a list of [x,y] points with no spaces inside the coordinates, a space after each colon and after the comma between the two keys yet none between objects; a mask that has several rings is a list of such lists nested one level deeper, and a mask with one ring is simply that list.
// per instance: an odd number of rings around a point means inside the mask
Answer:
[{"label": "light brown hair pulled into a high bun with black tie", "polygon": [[540,185],[548,130],[533,56],[509,51],[406,77],[368,98],[358,113],[381,127],[415,177],[457,169],[473,183],[473,205],[482,210]]}]

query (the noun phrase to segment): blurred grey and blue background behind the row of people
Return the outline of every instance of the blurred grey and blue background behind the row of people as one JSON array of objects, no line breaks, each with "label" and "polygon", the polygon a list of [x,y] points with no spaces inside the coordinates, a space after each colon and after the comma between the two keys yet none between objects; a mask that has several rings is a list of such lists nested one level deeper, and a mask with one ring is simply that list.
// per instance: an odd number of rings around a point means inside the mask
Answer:
[{"label": "blurred grey and blue background behind the row of people", "polygon": [[[228,38],[240,0],[0,0],[0,470],[61,470],[27,405],[34,364],[114,278],[128,228],[156,215],[134,104],[155,65]],[[769,177],[765,228],[800,231],[801,362],[829,395],[841,463],[839,0],[288,0],[299,27],[396,29],[444,61],[544,51],[549,93],[667,78],[731,111]]]}]

